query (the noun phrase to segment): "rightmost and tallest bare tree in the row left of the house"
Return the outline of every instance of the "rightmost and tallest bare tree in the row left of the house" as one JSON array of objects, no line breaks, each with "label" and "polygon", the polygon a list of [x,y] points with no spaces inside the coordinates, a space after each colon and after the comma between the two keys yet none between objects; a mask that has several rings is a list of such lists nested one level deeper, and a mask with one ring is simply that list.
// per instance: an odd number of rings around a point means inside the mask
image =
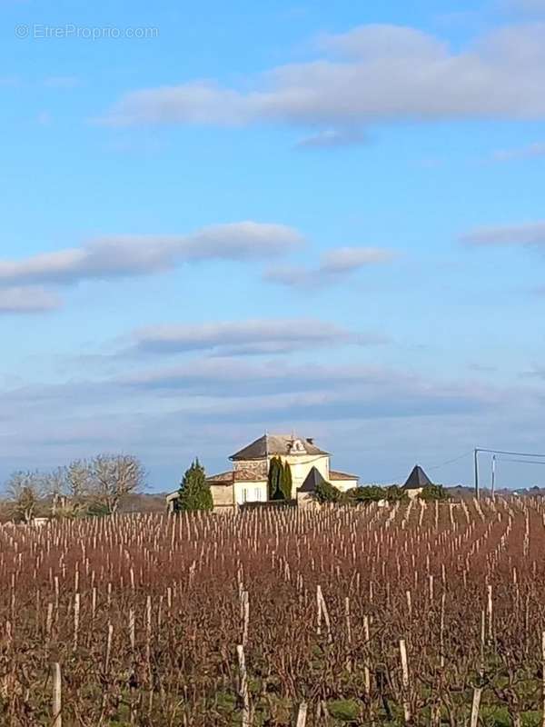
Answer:
[{"label": "rightmost and tallest bare tree in the row left of the house", "polygon": [[92,496],[111,514],[117,513],[124,495],[136,492],[145,482],[144,467],[131,454],[99,454],[90,470]]}]

